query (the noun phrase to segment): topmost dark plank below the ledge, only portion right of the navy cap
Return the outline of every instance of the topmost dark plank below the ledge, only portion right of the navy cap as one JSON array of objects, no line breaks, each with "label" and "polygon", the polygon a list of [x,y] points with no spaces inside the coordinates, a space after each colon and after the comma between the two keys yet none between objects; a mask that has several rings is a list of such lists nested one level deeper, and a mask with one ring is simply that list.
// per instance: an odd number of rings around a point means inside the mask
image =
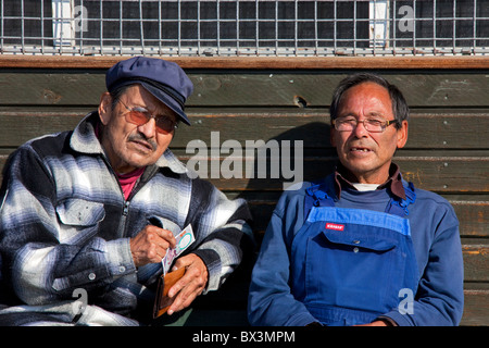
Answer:
[{"label": "topmost dark plank below the ledge, only portion right of the navy cap", "polygon": [[[260,105],[327,107],[339,82],[351,74],[266,72],[254,74],[189,73],[196,90],[189,105]],[[489,94],[488,75],[412,74],[385,72],[390,83],[399,86],[411,107],[484,107]]]}]

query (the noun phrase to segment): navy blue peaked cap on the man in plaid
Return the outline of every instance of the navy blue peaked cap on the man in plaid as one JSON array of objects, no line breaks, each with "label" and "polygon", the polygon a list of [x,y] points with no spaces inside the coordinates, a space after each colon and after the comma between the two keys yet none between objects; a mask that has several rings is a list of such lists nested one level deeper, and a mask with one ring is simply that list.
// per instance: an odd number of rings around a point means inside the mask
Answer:
[{"label": "navy blue peaked cap on the man in plaid", "polygon": [[190,125],[184,110],[193,84],[178,64],[158,58],[135,57],[116,63],[105,74],[108,91],[133,84],[141,85]]}]

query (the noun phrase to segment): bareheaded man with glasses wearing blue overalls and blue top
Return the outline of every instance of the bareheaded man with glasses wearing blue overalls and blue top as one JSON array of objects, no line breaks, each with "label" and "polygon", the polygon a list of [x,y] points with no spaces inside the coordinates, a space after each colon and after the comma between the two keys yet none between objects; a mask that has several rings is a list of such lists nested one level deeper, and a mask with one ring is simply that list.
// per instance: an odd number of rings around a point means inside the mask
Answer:
[{"label": "bareheaded man with glasses wearing blue overalls and blue top", "polygon": [[457,325],[463,312],[459,221],[442,197],[392,162],[408,140],[400,90],[355,74],[335,90],[339,163],[279,199],[253,269],[252,325]]}]

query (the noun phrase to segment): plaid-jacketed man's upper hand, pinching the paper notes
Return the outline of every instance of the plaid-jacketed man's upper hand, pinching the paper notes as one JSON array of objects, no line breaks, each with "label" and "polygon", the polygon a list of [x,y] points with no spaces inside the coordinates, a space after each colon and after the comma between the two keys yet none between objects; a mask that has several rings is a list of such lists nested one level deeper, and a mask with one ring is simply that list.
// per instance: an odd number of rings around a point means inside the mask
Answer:
[{"label": "plaid-jacketed man's upper hand, pinching the paper notes", "polygon": [[148,225],[136,237],[130,238],[129,244],[134,264],[138,268],[161,262],[166,250],[175,248],[176,240],[171,231]]}]

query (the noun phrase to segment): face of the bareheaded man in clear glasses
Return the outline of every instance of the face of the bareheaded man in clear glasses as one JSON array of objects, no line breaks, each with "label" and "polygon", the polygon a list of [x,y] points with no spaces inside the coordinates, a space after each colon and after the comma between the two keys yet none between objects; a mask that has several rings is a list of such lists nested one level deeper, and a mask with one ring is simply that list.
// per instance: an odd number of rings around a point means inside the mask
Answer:
[{"label": "face of the bareheaded man in clear glasses", "polygon": [[[394,120],[392,102],[386,88],[366,82],[347,89],[338,108],[339,117],[355,117],[356,121],[378,119]],[[348,132],[331,128],[331,145],[339,160],[359,183],[383,184],[389,177],[389,167],[396,149],[408,140],[408,122],[400,129],[394,125],[381,133],[369,133],[363,123]]]}]

